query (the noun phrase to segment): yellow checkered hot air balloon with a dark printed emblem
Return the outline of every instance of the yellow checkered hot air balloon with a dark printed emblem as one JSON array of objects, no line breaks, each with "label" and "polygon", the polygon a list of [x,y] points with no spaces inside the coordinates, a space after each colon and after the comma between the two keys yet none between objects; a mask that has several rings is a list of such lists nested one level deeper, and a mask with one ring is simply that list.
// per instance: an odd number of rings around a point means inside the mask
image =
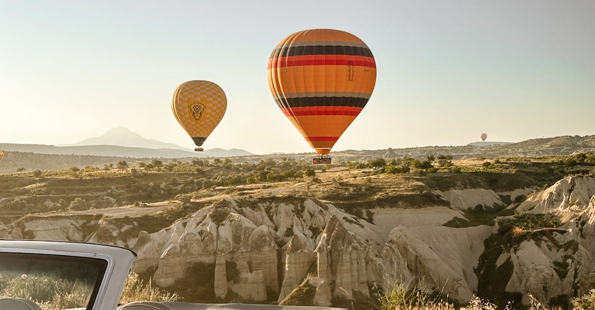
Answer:
[{"label": "yellow checkered hot air balloon with a dark printed emblem", "polygon": [[171,98],[171,110],[182,128],[202,151],[202,144],[217,127],[227,109],[225,93],[209,81],[187,81],[180,84]]}]

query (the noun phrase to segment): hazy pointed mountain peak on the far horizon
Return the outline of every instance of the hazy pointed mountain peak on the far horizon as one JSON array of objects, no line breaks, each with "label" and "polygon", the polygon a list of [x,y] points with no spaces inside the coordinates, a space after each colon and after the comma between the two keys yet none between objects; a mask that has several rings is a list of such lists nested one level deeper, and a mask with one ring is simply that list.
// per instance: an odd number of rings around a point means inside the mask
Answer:
[{"label": "hazy pointed mountain peak on the far horizon", "polygon": [[189,151],[189,148],[181,147],[173,143],[165,143],[157,140],[151,140],[131,131],[130,129],[119,126],[109,129],[105,134],[99,137],[88,138],[73,144],[61,144],[58,147],[71,147],[83,145],[120,145],[123,147],[140,147],[140,148],[171,148],[173,150]]}]

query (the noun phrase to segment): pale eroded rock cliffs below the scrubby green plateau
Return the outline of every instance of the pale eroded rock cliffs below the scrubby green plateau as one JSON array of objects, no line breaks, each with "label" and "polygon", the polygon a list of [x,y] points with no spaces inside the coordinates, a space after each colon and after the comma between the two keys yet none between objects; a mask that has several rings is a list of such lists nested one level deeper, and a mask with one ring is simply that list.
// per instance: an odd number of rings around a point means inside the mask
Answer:
[{"label": "pale eroded rock cliffs below the scrubby green plateau", "polygon": [[437,192],[446,205],[370,205],[367,220],[308,198],[228,199],[153,233],[139,233],[134,218],[30,216],[0,224],[0,238],[127,246],[139,255],[133,271],[154,271],[165,287],[200,264],[212,276],[200,284],[220,300],[281,302],[308,292],[313,305],[328,306],[402,281],[461,302],[478,294],[527,303],[528,293],[568,302],[595,286],[595,177],[570,176],[505,210],[551,217],[554,228],[524,227],[518,215],[495,226],[443,226],[528,191],[452,189]]}]

